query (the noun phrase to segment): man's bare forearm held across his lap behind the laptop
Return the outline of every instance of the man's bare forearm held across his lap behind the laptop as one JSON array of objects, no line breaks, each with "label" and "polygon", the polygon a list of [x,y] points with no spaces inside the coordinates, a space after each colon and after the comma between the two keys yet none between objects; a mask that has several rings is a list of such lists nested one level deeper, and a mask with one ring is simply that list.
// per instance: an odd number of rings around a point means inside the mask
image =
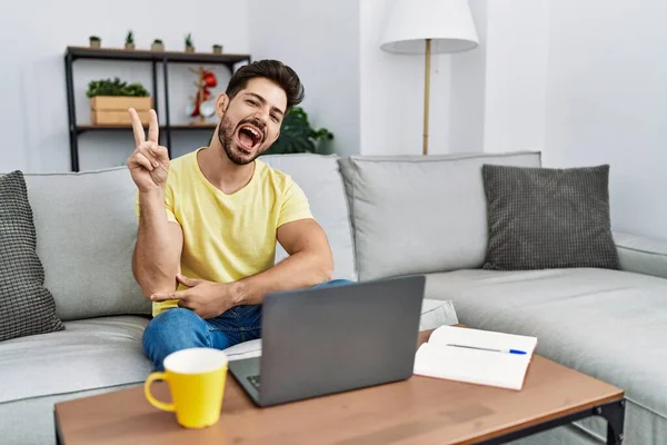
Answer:
[{"label": "man's bare forearm held across his lap behind the laptop", "polygon": [[268,270],[233,283],[235,305],[260,305],[271,291],[315,286],[332,275],[330,254],[300,251]]}]

